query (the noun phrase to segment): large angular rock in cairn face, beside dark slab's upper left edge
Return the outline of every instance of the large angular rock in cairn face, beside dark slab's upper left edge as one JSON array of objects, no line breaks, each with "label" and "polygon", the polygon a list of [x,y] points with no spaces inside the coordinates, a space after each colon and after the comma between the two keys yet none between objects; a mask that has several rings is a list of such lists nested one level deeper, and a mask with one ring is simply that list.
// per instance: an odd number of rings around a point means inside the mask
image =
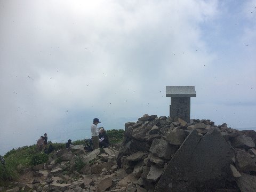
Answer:
[{"label": "large angular rock in cairn face, beside dark slab's upper left edge", "polygon": [[171,159],[171,155],[178,149],[178,146],[170,145],[162,139],[154,139],[149,151],[160,158]]}]

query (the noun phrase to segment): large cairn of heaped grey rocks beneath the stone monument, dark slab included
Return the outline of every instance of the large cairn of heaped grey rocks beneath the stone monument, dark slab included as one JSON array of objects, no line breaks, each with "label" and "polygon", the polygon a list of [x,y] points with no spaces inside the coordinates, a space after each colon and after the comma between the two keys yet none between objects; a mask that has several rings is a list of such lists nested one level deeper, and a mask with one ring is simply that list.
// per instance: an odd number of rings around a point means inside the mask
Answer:
[{"label": "large cairn of heaped grey rocks beneath the stone monument, dark slab included", "polygon": [[144,115],[125,124],[117,165],[146,191],[256,191],[255,139],[210,120]]}]

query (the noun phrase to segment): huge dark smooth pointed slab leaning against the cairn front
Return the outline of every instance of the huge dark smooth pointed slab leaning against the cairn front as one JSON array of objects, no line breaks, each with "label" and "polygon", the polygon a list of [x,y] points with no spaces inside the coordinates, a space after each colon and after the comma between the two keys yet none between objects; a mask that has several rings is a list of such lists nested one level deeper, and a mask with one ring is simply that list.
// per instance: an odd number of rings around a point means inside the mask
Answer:
[{"label": "huge dark smooth pointed slab leaning against the cairn front", "polygon": [[233,155],[217,129],[210,129],[201,140],[193,130],[169,162],[155,191],[214,191],[221,188],[225,186],[226,178],[231,177],[228,175],[229,162]]}]

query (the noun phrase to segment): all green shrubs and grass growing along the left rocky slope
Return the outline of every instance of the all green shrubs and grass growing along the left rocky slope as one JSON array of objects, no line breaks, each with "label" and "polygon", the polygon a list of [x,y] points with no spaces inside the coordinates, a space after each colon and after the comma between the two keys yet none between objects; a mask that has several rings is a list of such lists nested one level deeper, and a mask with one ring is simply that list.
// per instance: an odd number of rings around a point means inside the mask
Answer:
[{"label": "all green shrubs and grass growing along the left rocky slope", "polygon": [[[124,130],[107,130],[106,132],[110,145],[121,142],[123,139]],[[73,145],[84,145],[84,140],[76,140],[72,143]],[[49,145],[52,145],[54,151],[66,148],[66,143],[52,143],[49,141],[48,147]],[[8,151],[4,156],[5,164],[0,163],[0,186],[8,185],[9,181],[17,181],[19,174],[21,174],[24,169],[47,162],[49,156],[51,156],[51,154],[47,155],[37,151],[36,145],[24,146]],[[58,158],[56,161],[60,162],[61,159]],[[95,159],[93,159],[90,164],[93,164],[94,161]],[[81,170],[84,165],[85,163],[79,157],[75,162],[75,170]]]}]

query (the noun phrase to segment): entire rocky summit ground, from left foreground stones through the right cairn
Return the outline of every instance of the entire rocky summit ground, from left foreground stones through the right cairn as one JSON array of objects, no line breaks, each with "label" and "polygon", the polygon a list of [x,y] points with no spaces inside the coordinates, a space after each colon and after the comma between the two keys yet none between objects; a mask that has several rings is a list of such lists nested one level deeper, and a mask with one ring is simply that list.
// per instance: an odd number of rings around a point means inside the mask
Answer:
[{"label": "entire rocky summit ground, from left foreground stones through the right cairn", "polygon": [[[209,119],[144,115],[123,142],[55,151],[5,191],[256,191],[256,132]],[[81,166],[82,165],[82,166]],[[25,177],[26,176],[26,177]]]}]

